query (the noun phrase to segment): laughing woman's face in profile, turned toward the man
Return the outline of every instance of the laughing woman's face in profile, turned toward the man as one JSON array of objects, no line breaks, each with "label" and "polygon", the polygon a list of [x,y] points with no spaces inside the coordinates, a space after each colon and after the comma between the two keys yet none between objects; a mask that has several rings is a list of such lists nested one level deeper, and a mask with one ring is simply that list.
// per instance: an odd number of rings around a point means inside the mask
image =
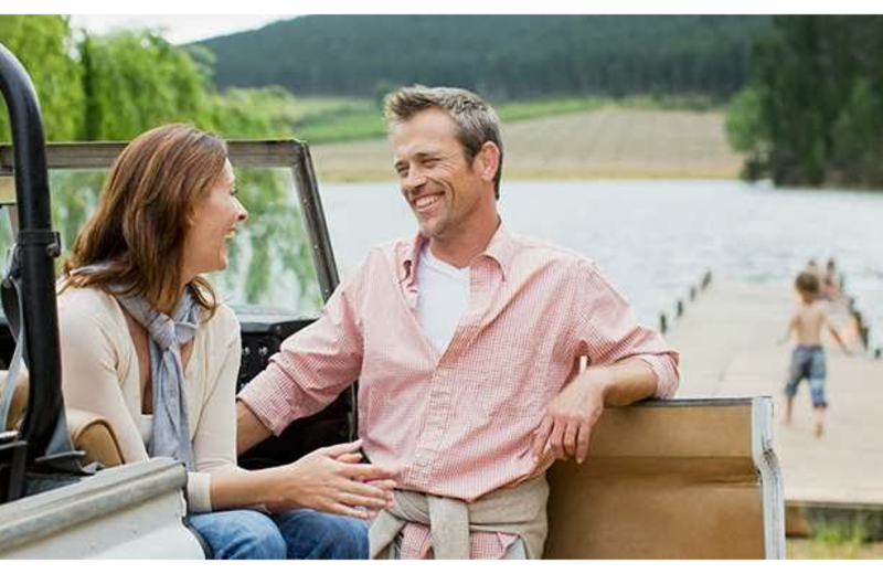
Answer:
[{"label": "laughing woman's face in profile, turned toward the man", "polygon": [[226,269],[230,263],[227,244],[236,235],[238,224],[247,219],[248,212],[236,199],[236,178],[227,160],[209,195],[193,209],[184,240],[184,283],[205,273]]}]

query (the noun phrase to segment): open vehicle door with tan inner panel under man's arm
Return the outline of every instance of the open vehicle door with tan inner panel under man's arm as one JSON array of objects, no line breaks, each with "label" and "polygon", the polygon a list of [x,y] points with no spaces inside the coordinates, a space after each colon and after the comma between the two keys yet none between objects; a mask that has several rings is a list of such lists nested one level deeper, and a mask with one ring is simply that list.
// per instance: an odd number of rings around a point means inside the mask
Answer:
[{"label": "open vehicle door with tan inner panel under man's arm", "polygon": [[608,410],[550,472],[546,561],[780,561],[769,398]]}]

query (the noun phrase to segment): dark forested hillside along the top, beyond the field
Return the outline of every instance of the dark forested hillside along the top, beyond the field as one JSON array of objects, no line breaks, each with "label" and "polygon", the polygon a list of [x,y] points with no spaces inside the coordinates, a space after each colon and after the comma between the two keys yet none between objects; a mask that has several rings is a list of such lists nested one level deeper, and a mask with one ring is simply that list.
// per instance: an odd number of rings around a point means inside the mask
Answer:
[{"label": "dark forested hillside along the top, beyond the field", "polygon": [[379,82],[500,98],[702,93],[747,78],[767,12],[317,12],[206,41],[221,86],[372,96]]}]

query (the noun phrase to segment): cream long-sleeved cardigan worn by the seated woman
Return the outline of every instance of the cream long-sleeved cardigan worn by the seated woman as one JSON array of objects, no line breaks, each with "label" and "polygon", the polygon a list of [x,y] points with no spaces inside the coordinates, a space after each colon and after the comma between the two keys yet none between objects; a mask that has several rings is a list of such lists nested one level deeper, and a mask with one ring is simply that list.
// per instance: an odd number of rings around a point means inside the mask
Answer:
[{"label": "cream long-sleeved cardigan worn by the seated woman", "polygon": [[[138,355],[117,300],[94,289],[58,297],[62,387],[67,407],[107,418],[126,463],[147,460],[139,432],[141,384]],[[236,379],[240,323],[222,305],[193,341],[185,370],[187,407],[196,471],[188,480],[188,510],[210,512],[211,476],[241,471],[236,465]]]}]

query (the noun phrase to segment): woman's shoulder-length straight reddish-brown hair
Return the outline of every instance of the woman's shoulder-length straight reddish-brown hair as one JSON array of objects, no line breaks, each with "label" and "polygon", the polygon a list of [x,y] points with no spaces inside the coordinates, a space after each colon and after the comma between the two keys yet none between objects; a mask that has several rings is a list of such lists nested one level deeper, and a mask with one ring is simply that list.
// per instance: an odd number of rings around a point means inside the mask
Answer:
[{"label": "woman's shoulder-length straight reddish-brown hair", "polygon": [[[64,264],[65,288],[123,286],[125,295],[172,312],[181,297],[189,217],[226,159],[224,140],[185,125],[162,126],[129,144]],[[84,269],[89,266],[97,267]],[[198,277],[188,287],[211,317],[217,307],[211,284]]]}]

